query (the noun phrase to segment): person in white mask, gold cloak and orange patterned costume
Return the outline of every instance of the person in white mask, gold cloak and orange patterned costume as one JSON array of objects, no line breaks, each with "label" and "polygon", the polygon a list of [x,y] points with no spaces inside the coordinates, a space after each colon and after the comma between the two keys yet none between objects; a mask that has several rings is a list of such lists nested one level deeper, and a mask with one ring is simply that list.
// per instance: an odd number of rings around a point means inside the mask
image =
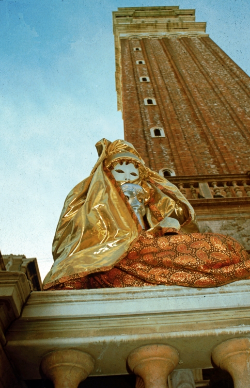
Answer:
[{"label": "person in white mask, gold cloak and orange patterned costume", "polygon": [[90,177],[67,196],[44,290],[215,287],[250,278],[232,237],[199,233],[193,208],[124,140],[96,144]]}]

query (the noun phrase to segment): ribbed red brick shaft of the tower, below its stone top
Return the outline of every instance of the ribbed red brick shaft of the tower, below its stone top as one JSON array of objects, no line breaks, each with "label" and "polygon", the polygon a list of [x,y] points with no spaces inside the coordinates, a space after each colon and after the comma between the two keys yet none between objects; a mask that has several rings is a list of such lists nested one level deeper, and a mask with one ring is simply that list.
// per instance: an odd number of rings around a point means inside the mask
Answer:
[{"label": "ribbed red brick shaft of the tower, below its stone top", "polygon": [[[150,168],[250,170],[250,78],[210,38],[121,39],[121,53],[125,139]],[[145,97],[157,105],[145,106]],[[156,126],[166,138],[151,137]]]}]

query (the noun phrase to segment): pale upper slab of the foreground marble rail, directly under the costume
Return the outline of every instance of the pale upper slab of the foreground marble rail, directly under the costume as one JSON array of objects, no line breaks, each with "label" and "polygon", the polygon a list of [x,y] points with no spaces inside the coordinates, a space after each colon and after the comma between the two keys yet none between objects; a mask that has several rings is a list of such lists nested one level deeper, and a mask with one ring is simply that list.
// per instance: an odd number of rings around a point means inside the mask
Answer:
[{"label": "pale upper slab of the foreground marble rail, directly under the costume", "polygon": [[22,319],[125,316],[250,306],[250,280],[222,287],[127,287],[32,292]]}]

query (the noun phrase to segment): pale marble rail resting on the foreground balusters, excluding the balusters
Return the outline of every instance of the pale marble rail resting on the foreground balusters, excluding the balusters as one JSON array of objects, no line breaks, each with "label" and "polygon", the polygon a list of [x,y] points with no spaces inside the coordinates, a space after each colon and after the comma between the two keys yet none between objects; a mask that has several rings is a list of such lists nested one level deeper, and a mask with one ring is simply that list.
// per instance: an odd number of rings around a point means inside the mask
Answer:
[{"label": "pale marble rail resting on the foreground balusters, excluding the balusters", "polygon": [[6,333],[5,350],[22,379],[40,378],[48,352],[76,349],[92,375],[127,373],[127,356],[147,344],[173,346],[177,369],[211,368],[219,343],[250,337],[250,280],[219,288],[177,286],[31,293]]}]

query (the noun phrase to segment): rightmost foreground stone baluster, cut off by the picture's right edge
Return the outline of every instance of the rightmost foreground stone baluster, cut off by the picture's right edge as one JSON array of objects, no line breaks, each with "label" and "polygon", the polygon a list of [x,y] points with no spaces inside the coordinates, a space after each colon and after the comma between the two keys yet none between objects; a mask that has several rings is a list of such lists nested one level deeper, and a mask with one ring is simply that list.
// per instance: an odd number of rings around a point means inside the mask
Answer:
[{"label": "rightmost foreground stone baluster, cut off by the picture's right edge", "polygon": [[250,339],[235,338],[220,343],[213,350],[212,359],[231,374],[234,388],[250,388]]}]

